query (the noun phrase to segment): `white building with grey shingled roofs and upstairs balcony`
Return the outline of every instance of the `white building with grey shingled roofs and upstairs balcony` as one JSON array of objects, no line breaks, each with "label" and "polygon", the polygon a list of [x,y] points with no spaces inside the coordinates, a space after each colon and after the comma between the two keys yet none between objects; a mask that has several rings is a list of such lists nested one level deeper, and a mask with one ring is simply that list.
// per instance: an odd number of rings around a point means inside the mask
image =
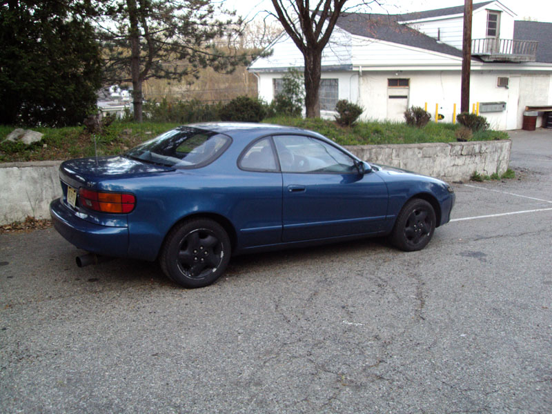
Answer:
[{"label": "white building with grey shingled roofs and upstairs balcony", "polygon": [[[452,121],[455,105],[460,112],[463,21],[464,6],[339,17],[322,57],[322,115],[348,99],[363,106],[364,119],[404,121],[406,108],[427,104]],[[479,103],[491,128],[521,128],[526,106],[552,109],[552,23],[515,21],[500,1],[486,1],[473,5],[472,39],[470,108]],[[286,34],[269,48],[273,54],[249,71],[270,102],[288,68],[304,63]]]}]

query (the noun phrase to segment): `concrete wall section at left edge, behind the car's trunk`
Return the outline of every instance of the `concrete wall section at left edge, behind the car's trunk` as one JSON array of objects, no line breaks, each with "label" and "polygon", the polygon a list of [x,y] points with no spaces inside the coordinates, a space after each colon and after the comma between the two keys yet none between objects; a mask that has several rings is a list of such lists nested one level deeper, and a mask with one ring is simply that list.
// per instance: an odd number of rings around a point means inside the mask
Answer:
[{"label": "concrete wall section at left edge, behind the car's trunk", "polygon": [[61,197],[61,161],[0,164],[0,224],[22,221],[28,215],[50,218],[50,201]]}]

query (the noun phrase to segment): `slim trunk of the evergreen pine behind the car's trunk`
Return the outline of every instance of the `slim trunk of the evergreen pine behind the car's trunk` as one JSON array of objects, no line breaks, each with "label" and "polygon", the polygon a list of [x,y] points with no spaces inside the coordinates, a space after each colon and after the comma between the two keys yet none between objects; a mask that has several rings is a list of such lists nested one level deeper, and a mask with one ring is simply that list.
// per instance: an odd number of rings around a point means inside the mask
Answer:
[{"label": "slim trunk of the evergreen pine behind the car's trunk", "polygon": [[132,109],[134,120],[142,121],[142,79],[140,79],[140,31],[135,0],[127,0],[130,21],[130,77],[132,77]]}]

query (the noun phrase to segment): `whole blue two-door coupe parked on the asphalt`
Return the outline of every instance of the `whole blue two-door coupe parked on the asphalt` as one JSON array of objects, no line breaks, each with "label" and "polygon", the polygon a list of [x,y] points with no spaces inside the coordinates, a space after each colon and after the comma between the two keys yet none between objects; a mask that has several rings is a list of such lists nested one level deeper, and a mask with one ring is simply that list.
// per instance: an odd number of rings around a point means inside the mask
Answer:
[{"label": "whole blue two-door coupe parked on the asphalt", "polygon": [[420,250],[455,195],[431,177],[367,164],[330,139],[268,124],[181,126],[124,155],[65,161],[56,230],[99,257],[159,260],[186,288],[232,255],[388,236]]}]

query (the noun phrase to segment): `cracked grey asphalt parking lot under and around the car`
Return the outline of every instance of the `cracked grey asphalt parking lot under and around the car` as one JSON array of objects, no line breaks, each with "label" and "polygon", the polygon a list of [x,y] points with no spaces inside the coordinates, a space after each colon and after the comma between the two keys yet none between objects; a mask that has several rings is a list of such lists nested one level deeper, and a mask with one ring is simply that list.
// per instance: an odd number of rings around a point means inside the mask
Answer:
[{"label": "cracked grey asphalt parking lot under and around the car", "polygon": [[453,184],[415,253],[237,257],[183,290],[77,268],[53,229],[0,235],[0,412],[552,412],[552,130],[511,137],[517,177]]}]

